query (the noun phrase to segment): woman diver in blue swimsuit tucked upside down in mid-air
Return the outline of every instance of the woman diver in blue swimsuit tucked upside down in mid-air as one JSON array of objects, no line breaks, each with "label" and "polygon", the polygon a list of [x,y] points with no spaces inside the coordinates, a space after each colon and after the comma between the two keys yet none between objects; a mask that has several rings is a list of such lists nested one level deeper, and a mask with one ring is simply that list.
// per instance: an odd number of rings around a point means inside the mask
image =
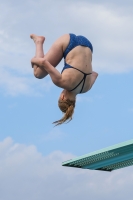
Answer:
[{"label": "woman diver in blue swimsuit tucked upside down in mid-air", "polygon": [[[35,34],[31,34],[30,37],[36,46],[35,57],[31,60],[35,77],[40,79],[49,74],[53,83],[63,88],[58,106],[65,115],[54,123],[59,125],[70,121],[74,113],[76,95],[90,90],[98,76],[92,71],[92,44],[84,36],[65,34],[54,42],[44,56],[45,37]],[[64,68],[59,73],[55,67],[63,57]]]}]

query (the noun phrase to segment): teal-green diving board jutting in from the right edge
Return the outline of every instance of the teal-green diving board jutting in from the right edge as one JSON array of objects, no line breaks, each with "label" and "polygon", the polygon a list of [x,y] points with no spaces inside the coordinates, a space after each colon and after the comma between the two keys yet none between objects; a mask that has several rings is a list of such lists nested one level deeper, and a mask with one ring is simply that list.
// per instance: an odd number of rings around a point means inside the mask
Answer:
[{"label": "teal-green diving board jutting in from the right edge", "polygon": [[133,165],[133,140],[85,154],[62,163],[62,166],[113,171]]}]

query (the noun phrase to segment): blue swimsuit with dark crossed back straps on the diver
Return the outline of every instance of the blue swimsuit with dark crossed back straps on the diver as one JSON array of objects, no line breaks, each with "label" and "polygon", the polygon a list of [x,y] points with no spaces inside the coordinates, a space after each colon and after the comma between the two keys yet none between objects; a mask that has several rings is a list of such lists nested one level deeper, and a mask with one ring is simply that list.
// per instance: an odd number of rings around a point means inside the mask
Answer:
[{"label": "blue swimsuit with dark crossed back straps on the diver", "polygon": [[[67,46],[66,50],[65,50],[64,53],[63,53],[64,59],[66,58],[67,54],[68,54],[73,48],[75,48],[76,46],[79,46],[79,45],[80,45],[80,46],[88,47],[88,48],[90,48],[90,50],[93,52],[92,44],[90,43],[90,41],[89,41],[87,38],[85,38],[84,36],[76,36],[76,35],[70,33],[70,42],[69,42],[69,45]],[[83,71],[81,71],[81,70],[79,70],[79,69],[77,69],[77,68],[75,68],[75,67],[72,67],[71,65],[67,64],[66,62],[65,62],[65,65],[64,65],[64,67],[63,67],[63,69],[62,69],[62,72],[63,72],[65,69],[68,69],[68,68],[76,69],[76,70],[80,71],[82,74],[84,74],[83,79],[78,83],[78,85],[76,85],[76,87],[74,87],[72,90],[70,90],[70,91],[75,90],[75,89],[83,82],[82,88],[81,88],[81,90],[80,90],[80,93],[81,93],[82,90],[83,90],[83,88],[84,88],[86,76],[87,76],[87,75],[90,75],[90,74],[92,74],[92,73],[86,74],[86,73],[84,73]],[[61,72],[61,73],[62,73],[62,72]]]}]

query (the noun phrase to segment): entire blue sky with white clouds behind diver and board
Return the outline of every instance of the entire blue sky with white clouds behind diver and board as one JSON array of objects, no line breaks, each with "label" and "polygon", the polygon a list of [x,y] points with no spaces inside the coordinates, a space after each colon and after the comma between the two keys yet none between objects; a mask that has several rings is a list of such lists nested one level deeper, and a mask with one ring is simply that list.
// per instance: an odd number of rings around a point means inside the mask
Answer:
[{"label": "entire blue sky with white clouds behind diver and board", "polygon": [[[132,199],[133,167],[105,173],[61,166],[133,139],[132,10],[131,0],[0,0],[0,199]],[[49,76],[34,78],[31,33],[45,35],[45,52],[65,33],[93,44],[99,77],[77,97],[68,124],[52,125],[62,117],[61,89]]]}]

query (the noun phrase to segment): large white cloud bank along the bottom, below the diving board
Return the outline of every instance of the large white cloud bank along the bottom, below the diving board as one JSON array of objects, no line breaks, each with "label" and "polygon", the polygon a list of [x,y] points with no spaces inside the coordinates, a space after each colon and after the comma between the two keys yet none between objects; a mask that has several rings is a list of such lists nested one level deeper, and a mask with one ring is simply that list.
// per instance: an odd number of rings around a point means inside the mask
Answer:
[{"label": "large white cloud bank along the bottom, below the diving board", "polygon": [[74,156],[60,151],[41,155],[34,145],[0,142],[0,199],[132,200],[132,167],[100,172],[62,167]]}]

